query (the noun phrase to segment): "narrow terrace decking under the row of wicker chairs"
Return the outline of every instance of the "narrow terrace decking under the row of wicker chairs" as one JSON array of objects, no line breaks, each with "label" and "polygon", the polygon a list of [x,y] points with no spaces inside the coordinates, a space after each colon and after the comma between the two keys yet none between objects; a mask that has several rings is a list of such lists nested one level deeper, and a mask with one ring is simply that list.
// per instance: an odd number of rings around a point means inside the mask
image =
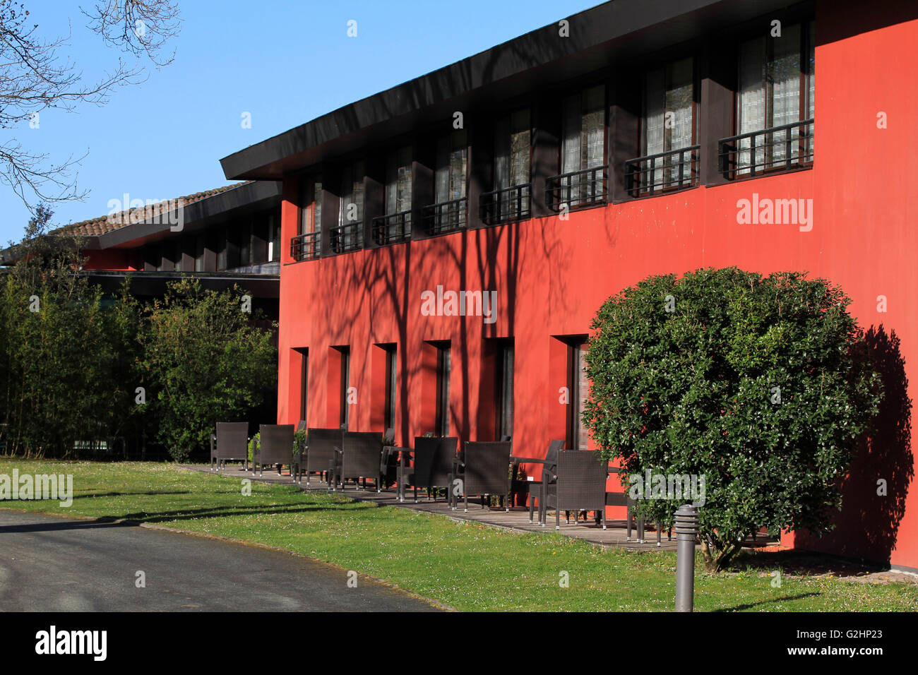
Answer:
[{"label": "narrow terrace decking under the row of wicker chairs", "polygon": [[[185,468],[191,469],[193,471],[201,471],[204,473],[210,473],[210,468],[206,465],[185,465]],[[252,475],[251,471],[244,471],[241,467],[226,467],[220,474],[227,476],[229,478],[249,478],[250,480],[257,480],[263,483],[271,484],[282,484],[282,485],[293,485],[304,491],[309,492],[330,492],[328,485],[324,481],[319,481],[318,478],[314,478],[313,482],[307,487],[306,481],[302,484],[297,484],[293,482],[293,479],[290,478],[289,474],[285,471],[284,474],[278,475],[277,470],[272,468],[270,471],[265,467],[264,475],[262,477],[256,477]],[[571,522],[565,523],[565,518],[562,515],[561,518],[561,529],[556,531],[554,529],[554,512],[549,511],[552,515],[548,517],[547,523],[544,527],[540,526],[537,523],[529,522],[529,509],[517,506],[512,508],[509,512],[505,512],[501,508],[491,508],[491,509],[482,509],[479,501],[469,501],[468,512],[463,511],[463,507],[460,504],[460,507],[455,511],[451,511],[446,500],[439,498],[437,501],[428,501],[426,494],[422,495],[420,490],[418,493],[418,503],[414,503],[413,496],[411,491],[406,495],[406,500],[404,503],[401,503],[397,500],[397,494],[395,488],[390,488],[384,492],[376,492],[375,489],[353,489],[349,487],[346,491],[341,492],[339,489],[334,494],[344,495],[348,499],[354,501],[365,501],[368,503],[375,503],[381,506],[398,506],[405,509],[410,509],[412,511],[420,511],[426,513],[437,513],[448,518],[452,518],[456,521],[462,522],[472,522],[472,523],[482,523],[492,527],[498,527],[505,530],[515,531],[515,532],[541,532],[541,533],[556,533],[563,536],[569,536],[574,539],[581,539],[587,541],[590,544],[596,544],[598,546],[612,547],[618,546],[621,548],[628,548],[633,550],[642,550],[642,551],[658,551],[662,549],[676,550],[676,536],[673,535],[672,540],[668,540],[666,537],[666,532],[663,533],[661,537],[660,546],[656,546],[656,532],[648,527],[644,532],[644,544],[639,544],[637,539],[637,530],[632,531],[632,540],[627,540],[627,530],[626,523],[623,520],[607,520],[608,528],[603,530],[601,525],[593,523],[592,520],[588,520],[587,523],[580,521],[575,524],[573,519],[573,513],[571,513]],[[411,497],[411,499],[409,499]],[[537,516],[536,516],[537,519]],[[746,546],[777,546],[778,542],[776,540],[767,539],[766,537],[759,537],[754,542],[752,539],[746,541]]]}]

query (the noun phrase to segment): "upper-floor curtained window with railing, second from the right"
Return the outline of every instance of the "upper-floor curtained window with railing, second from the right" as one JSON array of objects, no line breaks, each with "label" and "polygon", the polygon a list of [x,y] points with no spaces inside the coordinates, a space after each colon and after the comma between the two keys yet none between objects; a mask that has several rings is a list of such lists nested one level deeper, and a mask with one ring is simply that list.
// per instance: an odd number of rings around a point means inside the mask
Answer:
[{"label": "upper-floor curtained window with railing, second from the right", "polygon": [[[692,58],[667,63],[644,76],[644,119],[641,154],[644,156],[689,148],[695,138],[695,69]],[[667,123],[668,122],[668,123]],[[691,176],[689,155],[670,155],[645,168],[643,180],[665,188]]]}]

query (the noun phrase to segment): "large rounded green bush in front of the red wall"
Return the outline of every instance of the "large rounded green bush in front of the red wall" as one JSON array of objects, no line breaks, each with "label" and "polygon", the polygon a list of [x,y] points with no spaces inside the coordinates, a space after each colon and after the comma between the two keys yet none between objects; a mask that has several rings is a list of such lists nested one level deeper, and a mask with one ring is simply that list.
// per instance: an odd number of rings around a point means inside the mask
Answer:
[{"label": "large rounded green bush in front of the red wall", "polygon": [[[704,478],[709,571],[758,527],[823,533],[841,508],[882,396],[849,304],[822,279],[732,267],[651,276],[597,312],[583,422],[629,477]],[[644,496],[657,523],[690,501]]]}]

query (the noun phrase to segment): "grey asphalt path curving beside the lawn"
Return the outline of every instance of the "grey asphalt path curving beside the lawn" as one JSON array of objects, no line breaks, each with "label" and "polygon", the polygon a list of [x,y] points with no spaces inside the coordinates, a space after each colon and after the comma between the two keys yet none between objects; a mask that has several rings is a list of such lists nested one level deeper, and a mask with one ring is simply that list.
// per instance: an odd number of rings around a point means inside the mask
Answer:
[{"label": "grey asphalt path curving beside the lawn", "polygon": [[0,509],[0,612],[434,609],[408,592],[282,551]]}]

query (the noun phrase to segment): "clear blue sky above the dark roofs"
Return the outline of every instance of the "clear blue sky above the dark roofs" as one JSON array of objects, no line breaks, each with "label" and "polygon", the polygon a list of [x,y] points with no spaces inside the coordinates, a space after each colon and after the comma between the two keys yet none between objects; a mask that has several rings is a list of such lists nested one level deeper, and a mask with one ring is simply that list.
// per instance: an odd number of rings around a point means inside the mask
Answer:
[{"label": "clear blue sky above the dark roofs", "polygon": [[[94,0],[84,0],[90,6]],[[219,159],[309,119],[459,61],[599,4],[599,0],[177,0],[182,32],[175,61],[139,85],[119,88],[104,107],[41,113],[0,129],[56,163],[88,152],[83,202],[54,207],[52,223],[95,218],[108,201],[181,197],[229,183]],[[85,28],[79,3],[25,0],[39,34],[71,35],[61,51],[88,81],[119,52]],[[357,37],[347,23],[357,21]],[[252,129],[241,115],[252,114]],[[28,209],[0,186],[0,243],[19,240]]]}]

